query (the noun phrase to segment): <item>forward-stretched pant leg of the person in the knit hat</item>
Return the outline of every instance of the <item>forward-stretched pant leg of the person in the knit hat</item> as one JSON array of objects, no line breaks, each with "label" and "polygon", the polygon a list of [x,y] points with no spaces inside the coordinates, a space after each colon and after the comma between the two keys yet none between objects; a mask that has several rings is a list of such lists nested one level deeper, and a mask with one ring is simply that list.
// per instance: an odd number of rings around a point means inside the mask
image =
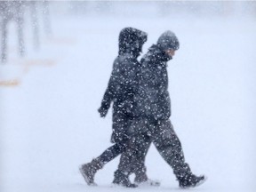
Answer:
[{"label": "forward-stretched pant leg of the person in the knit hat", "polygon": [[159,121],[156,129],[152,131],[154,132],[153,143],[157,151],[166,163],[172,167],[176,177],[182,177],[190,173],[189,165],[185,162],[180,140],[173,130],[171,121]]}]

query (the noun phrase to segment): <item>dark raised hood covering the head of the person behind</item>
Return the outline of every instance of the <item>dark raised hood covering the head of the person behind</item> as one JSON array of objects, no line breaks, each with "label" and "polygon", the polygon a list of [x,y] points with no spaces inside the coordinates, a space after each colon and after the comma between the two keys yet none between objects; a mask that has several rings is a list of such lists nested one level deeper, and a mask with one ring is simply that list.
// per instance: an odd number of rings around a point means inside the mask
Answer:
[{"label": "dark raised hood covering the head of the person behind", "polygon": [[138,57],[142,45],[147,41],[147,33],[137,28],[123,28],[119,34],[119,55],[132,53]]}]

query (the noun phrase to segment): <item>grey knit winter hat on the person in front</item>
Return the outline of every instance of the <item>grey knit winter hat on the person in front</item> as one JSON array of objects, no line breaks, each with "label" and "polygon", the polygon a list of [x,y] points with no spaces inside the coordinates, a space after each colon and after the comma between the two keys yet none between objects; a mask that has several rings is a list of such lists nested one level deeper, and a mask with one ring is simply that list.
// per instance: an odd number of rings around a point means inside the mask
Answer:
[{"label": "grey knit winter hat on the person in front", "polygon": [[167,49],[178,50],[180,48],[180,43],[179,43],[179,40],[178,40],[177,36],[175,36],[175,34],[170,30],[165,31],[158,38],[157,44],[163,50],[167,50]]}]

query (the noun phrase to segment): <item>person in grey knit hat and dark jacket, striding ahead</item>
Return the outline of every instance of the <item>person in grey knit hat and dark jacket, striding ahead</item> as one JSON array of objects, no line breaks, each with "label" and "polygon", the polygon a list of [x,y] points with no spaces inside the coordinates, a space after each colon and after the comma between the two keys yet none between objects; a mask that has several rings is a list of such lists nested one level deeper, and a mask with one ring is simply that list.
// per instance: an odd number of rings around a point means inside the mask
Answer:
[{"label": "person in grey knit hat and dark jacket, striding ahead", "polygon": [[134,97],[136,117],[128,130],[131,144],[128,144],[128,148],[122,154],[116,172],[127,175],[141,170],[146,172],[143,170],[145,156],[150,143],[153,142],[165,162],[172,167],[180,188],[191,188],[203,183],[205,178],[191,172],[170,120],[171,100],[168,92],[167,61],[172,60],[179,48],[177,36],[168,30],[141,59],[138,91]]}]

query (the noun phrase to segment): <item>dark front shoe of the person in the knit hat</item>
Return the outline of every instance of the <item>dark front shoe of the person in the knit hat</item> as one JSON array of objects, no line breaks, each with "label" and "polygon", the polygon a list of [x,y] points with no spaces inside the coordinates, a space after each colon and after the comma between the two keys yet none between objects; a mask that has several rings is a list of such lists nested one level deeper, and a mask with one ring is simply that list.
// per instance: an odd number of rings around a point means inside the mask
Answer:
[{"label": "dark front shoe of the person in the knit hat", "polygon": [[204,183],[204,175],[197,177],[194,174],[187,174],[184,177],[178,177],[180,188],[195,188]]}]

